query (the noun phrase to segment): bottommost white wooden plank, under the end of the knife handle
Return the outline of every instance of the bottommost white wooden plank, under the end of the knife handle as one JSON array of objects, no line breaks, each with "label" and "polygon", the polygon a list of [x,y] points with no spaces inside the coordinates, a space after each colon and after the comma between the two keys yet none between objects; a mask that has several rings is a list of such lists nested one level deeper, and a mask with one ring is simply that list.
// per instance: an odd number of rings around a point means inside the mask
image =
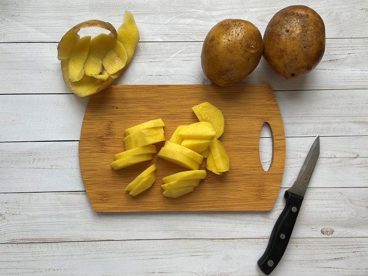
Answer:
[{"label": "bottommost white wooden plank, under the end of the knife handle", "polygon": [[[267,239],[0,244],[0,272],[261,276],[256,262],[266,245]],[[291,238],[272,275],[366,275],[367,257],[367,238]]]}]

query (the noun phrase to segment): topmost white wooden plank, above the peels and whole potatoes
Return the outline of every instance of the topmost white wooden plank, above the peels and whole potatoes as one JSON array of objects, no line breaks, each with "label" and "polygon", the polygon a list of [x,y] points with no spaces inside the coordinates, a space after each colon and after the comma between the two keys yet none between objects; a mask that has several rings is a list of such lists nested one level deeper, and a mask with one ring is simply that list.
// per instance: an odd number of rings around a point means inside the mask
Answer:
[{"label": "topmost white wooden plank, above the peels and whole potatoes", "polygon": [[302,0],[152,3],[127,0],[109,5],[89,0],[65,0],[60,3],[50,0],[31,3],[26,0],[4,0],[0,4],[0,42],[56,42],[72,26],[90,19],[108,21],[117,28],[126,9],[135,17],[141,41],[203,41],[208,31],[226,18],[248,20],[263,34],[272,16],[290,5],[308,5],[316,10],[325,22],[326,37],[368,37],[367,29],[362,27],[368,23],[368,6],[364,0],[338,4],[333,0],[310,0],[308,4]]}]

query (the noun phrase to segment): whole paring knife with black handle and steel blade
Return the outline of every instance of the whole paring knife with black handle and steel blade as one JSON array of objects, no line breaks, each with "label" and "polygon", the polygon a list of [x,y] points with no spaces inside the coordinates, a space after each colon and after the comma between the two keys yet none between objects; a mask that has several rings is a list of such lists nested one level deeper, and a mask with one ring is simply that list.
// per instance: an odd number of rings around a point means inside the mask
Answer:
[{"label": "whole paring knife with black handle and steel blade", "polygon": [[305,157],[303,167],[301,167],[296,181],[290,189],[285,191],[285,208],[276,220],[265,253],[258,260],[258,267],[266,275],[275,269],[286,250],[306,187],[308,187],[311,180],[319,155],[320,136],[317,136]]}]

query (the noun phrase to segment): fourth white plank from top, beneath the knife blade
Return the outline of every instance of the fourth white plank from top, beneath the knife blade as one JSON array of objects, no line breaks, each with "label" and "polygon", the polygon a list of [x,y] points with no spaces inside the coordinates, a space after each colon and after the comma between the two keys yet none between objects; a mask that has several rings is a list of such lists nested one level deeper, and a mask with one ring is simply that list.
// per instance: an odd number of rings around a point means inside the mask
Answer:
[{"label": "fourth white plank from top, beneath the knife blade", "polygon": [[[261,136],[267,133],[262,129]],[[295,181],[314,137],[287,137],[282,188]],[[368,187],[365,136],[320,137],[321,153],[310,187]],[[84,191],[78,141],[0,143],[0,193]],[[260,158],[269,165],[271,138],[260,139]],[[57,156],[57,158],[55,158]],[[349,172],[349,174],[346,174]]]}]

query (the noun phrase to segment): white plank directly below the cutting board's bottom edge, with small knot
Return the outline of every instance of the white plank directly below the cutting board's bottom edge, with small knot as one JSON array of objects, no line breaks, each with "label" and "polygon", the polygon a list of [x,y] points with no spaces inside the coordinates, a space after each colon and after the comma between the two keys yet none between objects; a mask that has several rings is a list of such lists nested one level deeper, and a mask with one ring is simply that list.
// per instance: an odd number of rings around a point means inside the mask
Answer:
[{"label": "white plank directly below the cutting board's bottom edge, with small knot", "polygon": [[[270,211],[231,212],[97,213],[85,192],[0,194],[0,243],[269,238],[285,190]],[[292,237],[368,238],[367,195],[368,188],[308,188]]]}]

